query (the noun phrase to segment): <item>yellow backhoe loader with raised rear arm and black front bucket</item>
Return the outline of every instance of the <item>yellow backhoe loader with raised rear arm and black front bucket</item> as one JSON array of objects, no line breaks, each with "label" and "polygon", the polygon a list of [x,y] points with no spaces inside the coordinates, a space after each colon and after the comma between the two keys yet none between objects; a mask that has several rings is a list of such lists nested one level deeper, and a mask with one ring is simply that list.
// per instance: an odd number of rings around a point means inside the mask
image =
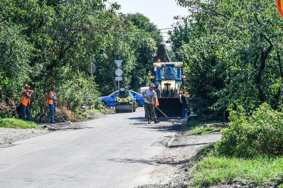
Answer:
[{"label": "yellow backhoe loader with raised rear arm and black front bucket", "polygon": [[[182,117],[182,103],[178,98],[184,88],[183,62],[171,62],[165,44],[158,45],[157,55],[153,57],[153,74],[151,81],[159,101],[159,109],[171,118]],[[156,111],[158,118],[164,115]]]}]

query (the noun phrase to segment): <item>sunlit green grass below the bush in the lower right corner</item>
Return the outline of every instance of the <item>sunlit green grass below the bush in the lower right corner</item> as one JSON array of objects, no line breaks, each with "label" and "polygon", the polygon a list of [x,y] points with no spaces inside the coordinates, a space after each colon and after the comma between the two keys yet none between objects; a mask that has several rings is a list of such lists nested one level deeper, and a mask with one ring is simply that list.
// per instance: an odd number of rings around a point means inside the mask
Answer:
[{"label": "sunlit green grass below the bush in the lower right corner", "polygon": [[210,154],[195,166],[191,173],[194,187],[217,185],[220,182],[228,182],[230,178],[258,185],[270,183],[275,185],[283,176],[282,157],[239,159]]}]

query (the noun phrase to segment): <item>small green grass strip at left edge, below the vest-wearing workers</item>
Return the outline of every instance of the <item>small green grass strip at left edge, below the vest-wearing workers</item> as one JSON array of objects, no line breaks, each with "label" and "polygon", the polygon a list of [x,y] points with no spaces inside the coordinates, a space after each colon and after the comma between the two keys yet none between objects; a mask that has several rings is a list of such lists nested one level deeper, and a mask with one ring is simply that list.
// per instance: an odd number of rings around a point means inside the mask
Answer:
[{"label": "small green grass strip at left edge, below the vest-wearing workers", "polygon": [[23,121],[14,118],[0,118],[0,127],[3,128],[36,128],[42,129],[35,123],[30,123],[28,121]]}]

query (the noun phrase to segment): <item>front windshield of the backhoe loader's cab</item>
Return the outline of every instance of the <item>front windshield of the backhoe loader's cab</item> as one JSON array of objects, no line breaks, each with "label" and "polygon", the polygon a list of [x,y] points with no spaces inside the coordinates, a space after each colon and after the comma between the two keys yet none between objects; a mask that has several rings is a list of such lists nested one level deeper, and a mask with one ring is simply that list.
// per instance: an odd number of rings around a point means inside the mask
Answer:
[{"label": "front windshield of the backhoe loader's cab", "polygon": [[[166,80],[182,80],[181,67],[166,66]],[[155,81],[164,80],[164,67],[154,68]]]}]

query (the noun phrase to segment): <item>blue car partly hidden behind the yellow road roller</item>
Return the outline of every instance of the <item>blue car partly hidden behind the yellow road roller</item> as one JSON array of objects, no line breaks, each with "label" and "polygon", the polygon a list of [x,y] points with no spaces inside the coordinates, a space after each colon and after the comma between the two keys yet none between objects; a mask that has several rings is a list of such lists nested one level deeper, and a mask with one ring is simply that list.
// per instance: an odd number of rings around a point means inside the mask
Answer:
[{"label": "blue car partly hidden behind the yellow road roller", "polygon": [[[136,98],[136,108],[139,107],[139,106],[143,106],[144,98],[142,97],[142,95],[135,92],[135,91],[131,91],[131,90],[129,90],[129,91],[130,91],[130,94],[133,95],[133,96],[130,96],[130,97]],[[118,92],[119,91],[114,91],[110,95],[105,96],[105,97],[99,97],[98,99],[102,100],[104,105],[106,105],[108,107],[114,107],[115,106],[115,100],[117,99]]]}]

